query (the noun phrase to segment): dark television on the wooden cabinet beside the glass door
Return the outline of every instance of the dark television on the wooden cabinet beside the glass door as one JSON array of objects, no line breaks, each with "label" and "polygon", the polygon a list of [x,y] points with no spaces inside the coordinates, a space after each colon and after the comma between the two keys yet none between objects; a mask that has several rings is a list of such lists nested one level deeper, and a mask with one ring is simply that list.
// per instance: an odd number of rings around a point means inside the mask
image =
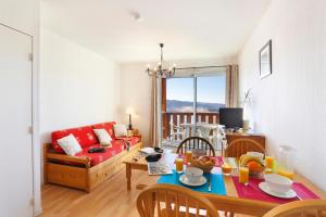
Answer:
[{"label": "dark television on the wooden cabinet beside the glass door", "polygon": [[241,107],[221,107],[220,108],[220,125],[229,128],[242,128],[243,125],[243,108]]}]

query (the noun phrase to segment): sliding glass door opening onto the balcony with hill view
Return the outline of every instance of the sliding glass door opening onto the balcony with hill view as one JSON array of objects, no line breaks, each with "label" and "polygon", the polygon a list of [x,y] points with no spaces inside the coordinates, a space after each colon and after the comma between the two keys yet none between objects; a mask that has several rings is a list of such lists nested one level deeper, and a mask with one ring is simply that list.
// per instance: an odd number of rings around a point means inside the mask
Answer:
[{"label": "sliding glass door opening onto the balcony with hill view", "polygon": [[220,107],[225,107],[225,73],[164,79],[162,90],[163,145],[176,146],[190,136],[209,137],[218,124]]}]

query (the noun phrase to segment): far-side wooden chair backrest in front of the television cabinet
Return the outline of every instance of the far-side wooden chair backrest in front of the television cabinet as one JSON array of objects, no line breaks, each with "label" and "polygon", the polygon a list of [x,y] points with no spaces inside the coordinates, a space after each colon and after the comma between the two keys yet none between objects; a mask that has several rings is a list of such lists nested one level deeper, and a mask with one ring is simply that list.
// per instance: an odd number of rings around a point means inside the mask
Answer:
[{"label": "far-side wooden chair backrest in front of the television cabinet", "polygon": [[240,138],[231,141],[224,151],[225,157],[240,157],[247,152],[260,152],[265,154],[265,149],[252,139]]}]

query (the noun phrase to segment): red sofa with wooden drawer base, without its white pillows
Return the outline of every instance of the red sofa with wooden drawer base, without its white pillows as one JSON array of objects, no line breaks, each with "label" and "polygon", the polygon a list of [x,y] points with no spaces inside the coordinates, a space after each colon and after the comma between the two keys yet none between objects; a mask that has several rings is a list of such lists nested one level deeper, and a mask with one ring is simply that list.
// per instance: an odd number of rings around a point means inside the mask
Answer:
[{"label": "red sofa with wooden drawer base, without its white pillows", "polygon": [[[102,123],[52,132],[52,143],[45,144],[45,181],[90,191],[122,168],[123,159],[131,157],[141,149],[140,136],[116,138],[115,122]],[[105,129],[112,138],[112,146],[104,153],[88,153],[100,146],[92,129]],[[58,144],[58,140],[68,135],[79,142],[83,151],[68,156]],[[127,144],[129,151],[127,151]]]}]

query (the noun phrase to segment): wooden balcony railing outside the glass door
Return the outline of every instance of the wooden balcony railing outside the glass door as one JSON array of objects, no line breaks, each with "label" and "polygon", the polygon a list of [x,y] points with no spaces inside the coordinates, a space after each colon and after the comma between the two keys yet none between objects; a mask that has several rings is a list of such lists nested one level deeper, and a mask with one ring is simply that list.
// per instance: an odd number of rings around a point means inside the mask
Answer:
[{"label": "wooden balcony railing outside the glass door", "polygon": [[[162,113],[163,119],[163,138],[171,136],[172,126],[179,127],[184,123],[193,123],[193,113],[183,113],[183,112],[164,112]],[[208,124],[218,124],[220,114],[218,113],[196,113],[197,123],[208,123]]]}]

